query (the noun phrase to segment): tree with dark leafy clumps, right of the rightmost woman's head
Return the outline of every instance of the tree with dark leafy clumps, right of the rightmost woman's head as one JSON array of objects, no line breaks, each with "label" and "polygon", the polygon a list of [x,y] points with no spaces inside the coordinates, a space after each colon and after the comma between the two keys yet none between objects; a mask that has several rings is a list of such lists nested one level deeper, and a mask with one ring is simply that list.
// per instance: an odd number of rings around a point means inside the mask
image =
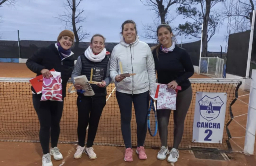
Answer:
[{"label": "tree with dark leafy clumps, right of the rightmost woman's head", "polygon": [[[203,24],[202,57],[207,56],[207,43],[219,26],[218,17],[210,15],[210,10],[214,5],[223,1],[224,0],[187,0],[186,3],[177,8],[178,14],[194,21],[192,23],[187,21],[185,24],[180,24],[178,28],[179,35],[183,34],[185,36],[201,38],[201,25]],[[200,8],[191,7],[193,5],[199,5]]]}]

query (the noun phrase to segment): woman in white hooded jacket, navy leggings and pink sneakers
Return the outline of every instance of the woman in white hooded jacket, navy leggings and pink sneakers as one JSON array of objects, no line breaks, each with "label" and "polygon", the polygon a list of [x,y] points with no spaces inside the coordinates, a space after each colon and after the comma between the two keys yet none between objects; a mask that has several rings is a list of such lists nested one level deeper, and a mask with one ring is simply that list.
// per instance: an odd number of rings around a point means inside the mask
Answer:
[{"label": "woman in white hooded jacket, navy leggings and pink sneakers", "polygon": [[[155,63],[152,51],[147,43],[139,41],[136,24],[127,20],[122,24],[123,36],[112,51],[110,58],[110,77],[115,82],[116,98],[121,113],[121,130],[126,147],[124,160],[132,161],[131,118],[134,104],[137,123],[137,149],[139,159],[147,158],[144,141],[147,134],[147,111],[149,92],[156,83]],[[121,77],[123,73],[135,73],[130,77]]]}]

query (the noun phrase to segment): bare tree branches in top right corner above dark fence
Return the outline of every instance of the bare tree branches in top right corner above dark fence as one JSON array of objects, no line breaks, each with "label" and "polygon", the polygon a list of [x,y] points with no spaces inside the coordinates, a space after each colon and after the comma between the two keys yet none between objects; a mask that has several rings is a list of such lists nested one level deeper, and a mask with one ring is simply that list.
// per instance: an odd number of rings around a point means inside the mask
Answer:
[{"label": "bare tree branches in top right corner above dark fence", "polygon": [[229,1],[224,2],[224,9],[216,12],[217,16],[221,18],[223,22],[228,17],[237,17],[238,19],[238,32],[244,32],[251,28],[252,23],[252,13],[255,10],[254,5],[256,4],[256,0],[239,0],[239,11],[234,11],[229,8]]}]

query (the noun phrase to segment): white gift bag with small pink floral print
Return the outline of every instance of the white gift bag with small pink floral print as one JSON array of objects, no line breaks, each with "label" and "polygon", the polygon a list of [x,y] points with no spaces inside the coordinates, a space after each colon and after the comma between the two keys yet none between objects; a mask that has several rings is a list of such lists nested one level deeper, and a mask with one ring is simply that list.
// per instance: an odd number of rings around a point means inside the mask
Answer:
[{"label": "white gift bag with small pink floral print", "polygon": [[157,98],[157,109],[176,110],[176,96],[177,93],[174,89],[168,88],[165,84],[160,84]]}]

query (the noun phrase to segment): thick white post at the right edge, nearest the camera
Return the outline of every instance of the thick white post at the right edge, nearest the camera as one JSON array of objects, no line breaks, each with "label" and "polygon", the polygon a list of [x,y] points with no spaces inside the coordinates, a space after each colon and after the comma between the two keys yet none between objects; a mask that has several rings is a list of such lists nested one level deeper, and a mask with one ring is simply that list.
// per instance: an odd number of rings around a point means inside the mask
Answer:
[{"label": "thick white post at the right edge, nearest the camera", "polygon": [[256,132],[256,70],[252,70],[252,81],[250,88],[249,107],[244,142],[244,154],[254,154],[255,132]]}]

